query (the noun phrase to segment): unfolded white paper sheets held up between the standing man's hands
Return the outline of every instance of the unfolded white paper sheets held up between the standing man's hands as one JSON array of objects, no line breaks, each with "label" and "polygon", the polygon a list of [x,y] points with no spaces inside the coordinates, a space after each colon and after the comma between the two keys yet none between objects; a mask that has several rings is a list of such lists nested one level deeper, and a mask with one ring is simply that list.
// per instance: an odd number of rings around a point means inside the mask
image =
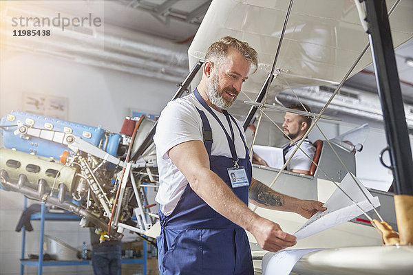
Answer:
[{"label": "unfolded white paper sheets held up between the standing man's hands", "polygon": [[[366,187],[364,187],[358,179],[357,182],[370,201],[372,201],[374,207],[380,206],[379,198],[372,197],[370,192],[368,192]],[[357,203],[361,209],[363,209],[364,212],[368,212],[373,209],[373,206],[363,195],[363,192],[354,182],[354,179],[352,179],[349,173],[341,181],[340,187],[351,197],[354,202]],[[328,228],[332,228],[340,223],[345,223],[346,221],[350,221],[350,219],[354,219],[355,217],[363,214],[359,207],[352,203],[352,201],[350,201],[350,199],[344,195],[339,188],[336,188],[324,206],[327,208],[326,211],[319,211],[314,214],[313,217],[308,219],[308,221],[304,223],[304,225],[297,232],[295,232],[294,235],[297,237],[297,240],[304,239],[307,236],[311,236]]]}]

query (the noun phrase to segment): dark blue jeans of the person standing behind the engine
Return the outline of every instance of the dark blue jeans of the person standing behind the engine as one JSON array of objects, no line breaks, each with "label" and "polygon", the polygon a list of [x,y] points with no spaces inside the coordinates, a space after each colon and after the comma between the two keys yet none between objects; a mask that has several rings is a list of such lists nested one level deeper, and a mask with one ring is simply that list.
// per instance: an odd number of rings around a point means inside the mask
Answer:
[{"label": "dark blue jeans of the person standing behind the engine", "polygon": [[121,245],[99,246],[92,250],[92,265],[95,275],[120,275]]}]

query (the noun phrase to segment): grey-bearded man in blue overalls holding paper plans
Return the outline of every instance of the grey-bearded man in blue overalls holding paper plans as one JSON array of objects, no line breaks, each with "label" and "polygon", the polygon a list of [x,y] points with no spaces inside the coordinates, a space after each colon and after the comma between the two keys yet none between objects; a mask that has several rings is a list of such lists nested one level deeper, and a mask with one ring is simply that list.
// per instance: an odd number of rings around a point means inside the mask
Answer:
[{"label": "grey-bearded man in blue overalls holding paper plans", "polygon": [[244,131],[226,109],[257,63],[247,43],[220,39],[207,50],[197,89],[169,102],[160,115],[153,137],[160,274],[253,274],[245,230],[264,250],[295,245],[295,236],[249,210],[248,199],[306,218],[326,210],[319,201],[288,197],[252,177]]}]

